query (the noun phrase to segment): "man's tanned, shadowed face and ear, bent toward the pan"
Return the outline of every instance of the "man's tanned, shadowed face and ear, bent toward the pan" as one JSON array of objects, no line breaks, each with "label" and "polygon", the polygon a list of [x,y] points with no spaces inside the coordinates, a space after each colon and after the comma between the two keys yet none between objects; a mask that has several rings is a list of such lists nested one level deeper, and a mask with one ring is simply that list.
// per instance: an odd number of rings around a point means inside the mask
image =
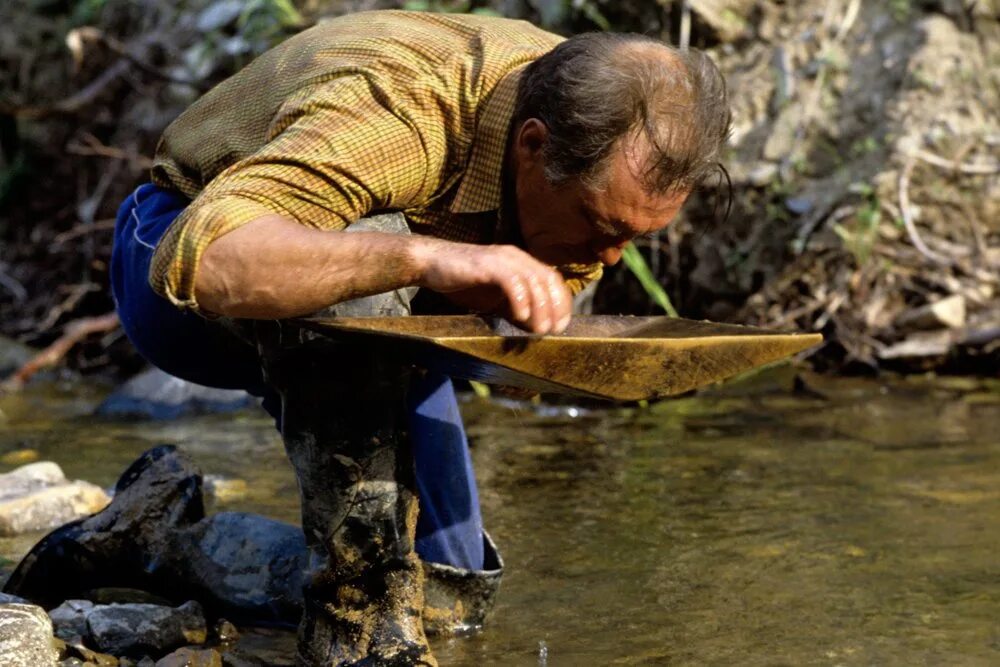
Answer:
[{"label": "man's tanned, shadowed face and ear, bent toward the pan", "polygon": [[530,136],[535,131],[544,134],[544,125],[522,126],[515,137],[517,212],[525,249],[547,264],[611,266],[630,240],[666,227],[687,198],[687,191],[646,192],[638,176],[642,155],[634,148],[616,151],[599,189],[577,180],[554,187],[545,179],[541,144]]}]

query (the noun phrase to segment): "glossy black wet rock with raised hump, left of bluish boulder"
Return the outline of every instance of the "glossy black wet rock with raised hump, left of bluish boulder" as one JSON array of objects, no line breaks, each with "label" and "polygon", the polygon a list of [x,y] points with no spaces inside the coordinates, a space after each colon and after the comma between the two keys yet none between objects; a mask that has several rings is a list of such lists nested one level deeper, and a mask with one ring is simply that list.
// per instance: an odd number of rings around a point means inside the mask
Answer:
[{"label": "glossy black wet rock with raised hump, left of bluish boulder", "polygon": [[154,447],[122,474],[104,510],[42,538],[4,592],[48,608],[107,586],[156,591],[159,554],[204,516],[201,475],[175,447]]}]

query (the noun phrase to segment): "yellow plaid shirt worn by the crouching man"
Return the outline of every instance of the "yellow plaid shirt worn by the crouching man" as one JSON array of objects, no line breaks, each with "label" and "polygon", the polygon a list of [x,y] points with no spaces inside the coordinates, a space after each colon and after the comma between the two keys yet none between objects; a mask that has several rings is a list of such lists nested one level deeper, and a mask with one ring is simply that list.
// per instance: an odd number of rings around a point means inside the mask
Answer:
[{"label": "yellow plaid shirt worn by the crouching man", "polygon": [[[561,38],[521,21],[364,12],[306,30],[199,99],[164,132],[153,181],[193,202],[150,282],[197,310],[208,244],[262,215],[341,230],[402,211],[412,231],[504,242],[504,152],[524,66]],[[599,265],[559,267],[575,292]]]}]

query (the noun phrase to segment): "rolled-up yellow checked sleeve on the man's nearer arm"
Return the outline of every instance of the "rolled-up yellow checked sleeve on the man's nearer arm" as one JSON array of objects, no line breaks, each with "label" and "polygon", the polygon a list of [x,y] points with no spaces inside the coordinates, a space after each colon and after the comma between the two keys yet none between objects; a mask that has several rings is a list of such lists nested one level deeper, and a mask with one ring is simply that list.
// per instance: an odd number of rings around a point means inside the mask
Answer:
[{"label": "rolled-up yellow checked sleeve on the man's nearer arm", "polygon": [[345,76],[304,91],[276,114],[267,143],[212,179],[157,245],[153,289],[198,311],[195,280],[208,245],[270,214],[324,230],[371,211],[427,200],[440,185],[440,133],[393,106],[377,84]]}]

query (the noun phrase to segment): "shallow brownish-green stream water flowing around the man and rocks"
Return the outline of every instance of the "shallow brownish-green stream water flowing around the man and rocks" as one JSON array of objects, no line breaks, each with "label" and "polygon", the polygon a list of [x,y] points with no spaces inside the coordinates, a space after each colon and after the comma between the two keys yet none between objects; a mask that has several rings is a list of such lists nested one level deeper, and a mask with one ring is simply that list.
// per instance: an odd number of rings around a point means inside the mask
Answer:
[{"label": "shallow brownish-green stream water flowing around the man and rocks", "polygon": [[[485,630],[433,642],[440,663],[1000,664],[1000,383],[805,379],[779,370],[642,409],[470,398],[507,575]],[[297,519],[263,412],[88,417],[104,391],[0,399],[0,471],[32,450],[110,486],[176,443],[246,481],[217,509]],[[38,537],[0,540],[4,569]],[[242,641],[290,662],[290,633]]]}]

